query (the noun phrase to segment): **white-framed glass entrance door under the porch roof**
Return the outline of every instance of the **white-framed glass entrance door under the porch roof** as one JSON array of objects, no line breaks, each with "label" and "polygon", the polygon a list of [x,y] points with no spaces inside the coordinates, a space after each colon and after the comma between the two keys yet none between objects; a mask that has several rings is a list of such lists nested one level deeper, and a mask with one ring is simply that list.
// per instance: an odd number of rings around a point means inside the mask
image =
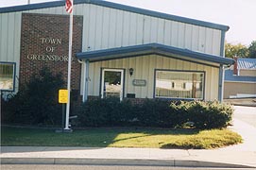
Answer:
[{"label": "white-framed glass entrance door under the porch roof", "polygon": [[103,69],[101,82],[101,98],[115,96],[123,99],[124,70]]}]

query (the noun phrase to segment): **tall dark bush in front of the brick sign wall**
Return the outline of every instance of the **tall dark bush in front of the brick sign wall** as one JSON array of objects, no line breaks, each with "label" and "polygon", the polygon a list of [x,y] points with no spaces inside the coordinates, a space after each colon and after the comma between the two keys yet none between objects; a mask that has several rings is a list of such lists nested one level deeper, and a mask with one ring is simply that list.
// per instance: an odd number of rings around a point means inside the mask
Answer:
[{"label": "tall dark bush in front of the brick sign wall", "polygon": [[20,87],[19,93],[5,103],[3,122],[26,125],[60,125],[61,106],[58,91],[63,85],[60,75],[48,68],[34,74]]}]

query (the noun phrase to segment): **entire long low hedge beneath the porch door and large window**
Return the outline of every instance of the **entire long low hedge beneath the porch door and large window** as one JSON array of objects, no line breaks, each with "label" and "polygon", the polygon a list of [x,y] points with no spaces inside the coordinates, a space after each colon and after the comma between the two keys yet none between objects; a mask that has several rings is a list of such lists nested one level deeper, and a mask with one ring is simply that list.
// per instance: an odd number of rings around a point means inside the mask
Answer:
[{"label": "entire long low hedge beneath the porch door and large window", "polygon": [[88,101],[75,112],[78,127],[184,127],[191,122],[195,128],[209,129],[227,127],[233,110],[217,101],[147,99],[142,105],[132,105],[118,98],[105,98]]}]

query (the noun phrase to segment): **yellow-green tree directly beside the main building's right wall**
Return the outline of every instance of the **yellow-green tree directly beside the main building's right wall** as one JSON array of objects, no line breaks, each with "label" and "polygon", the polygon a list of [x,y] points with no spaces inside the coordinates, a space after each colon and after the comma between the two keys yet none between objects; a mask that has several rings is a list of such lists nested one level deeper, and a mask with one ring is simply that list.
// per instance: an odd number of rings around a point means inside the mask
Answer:
[{"label": "yellow-green tree directly beside the main building's right wall", "polygon": [[242,43],[238,44],[231,44],[231,43],[225,43],[225,56],[227,58],[247,58],[248,57],[248,49],[246,45],[243,45]]}]

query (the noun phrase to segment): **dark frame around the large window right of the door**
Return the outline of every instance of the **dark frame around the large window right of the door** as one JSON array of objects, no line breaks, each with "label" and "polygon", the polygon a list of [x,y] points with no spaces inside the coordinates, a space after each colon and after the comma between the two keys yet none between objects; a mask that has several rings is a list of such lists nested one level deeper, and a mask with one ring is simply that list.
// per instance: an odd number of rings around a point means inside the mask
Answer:
[{"label": "dark frame around the large window right of the door", "polygon": [[[203,74],[203,88],[202,88],[202,98],[184,98],[184,97],[163,97],[163,96],[156,96],[156,81],[157,81],[157,72],[180,72],[180,73],[201,73]],[[153,98],[159,99],[168,99],[168,100],[205,100],[205,84],[206,84],[206,72],[205,71],[197,71],[197,70],[172,70],[172,69],[155,69],[154,70],[154,90],[153,90]],[[176,83],[175,83],[176,84]]]}]

